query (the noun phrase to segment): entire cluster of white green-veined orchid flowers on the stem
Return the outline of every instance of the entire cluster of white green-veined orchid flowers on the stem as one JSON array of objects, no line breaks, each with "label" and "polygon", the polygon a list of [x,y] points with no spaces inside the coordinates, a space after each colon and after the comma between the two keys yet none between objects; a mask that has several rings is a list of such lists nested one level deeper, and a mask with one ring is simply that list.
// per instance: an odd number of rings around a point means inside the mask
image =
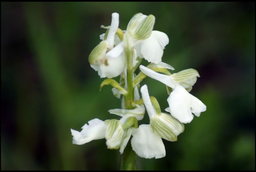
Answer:
[{"label": "entire cluster of white green-veined orchid flowers on the stem", "polygon": [[[100,35],[102,40],[89,55],[89,62],[101,78],[107,77],[102,82],[111,85],[113,94],[122,99],[122,109],[111,109],[109,113],[121,116],[120,120],[111,119],[101,121],[93,119],[78,132],[71,129],[73,144],[82,145],[92,140],[105,138],[109,149],[120,148],[124,152],[131,138],[132,149],[143,158],[162,158],[165,148],[162,138],[176,141],[177,136],[184,131],[184,124],[192,121],[194,113],[199,116],[206,110],[206,106],[189,91],[196,83],[198,72],[195,69],[186,69],[171,74],[167,69],[174,68],[162,61],[164,47],[169,43],[168,36],[163,32],[153,31],[155,17],[153,15],[135,14],[125,30],[118,28],[119,14],[112,14],[111,26],[105,34]],[[151,62],[147,67],[140,65],[142,59]],[[130,64],[130,65],[129,65]],[[140,65],[140,73],[134,71]],[[132,70],[132,83],[129,83],[128,71]],[[163,74],[160,74],[161,72]],[[120,75],[120,83],[111,79]],[[169,107],[162,113],[154,97],[149,97],[147,85],[140,89],[139,83],[149,76],[164,83],[170,93],[167,101]],[[129,93],[132,85],[132,95]],[[125,100],[130,96],[130,106],[126,108]],[[131,102],[132,101],[132,102]],[[145,106],[144,106],[145,105]],[[138,126],[138,121],[143,119],[145,107],[148,112],[150,124]]]}]

